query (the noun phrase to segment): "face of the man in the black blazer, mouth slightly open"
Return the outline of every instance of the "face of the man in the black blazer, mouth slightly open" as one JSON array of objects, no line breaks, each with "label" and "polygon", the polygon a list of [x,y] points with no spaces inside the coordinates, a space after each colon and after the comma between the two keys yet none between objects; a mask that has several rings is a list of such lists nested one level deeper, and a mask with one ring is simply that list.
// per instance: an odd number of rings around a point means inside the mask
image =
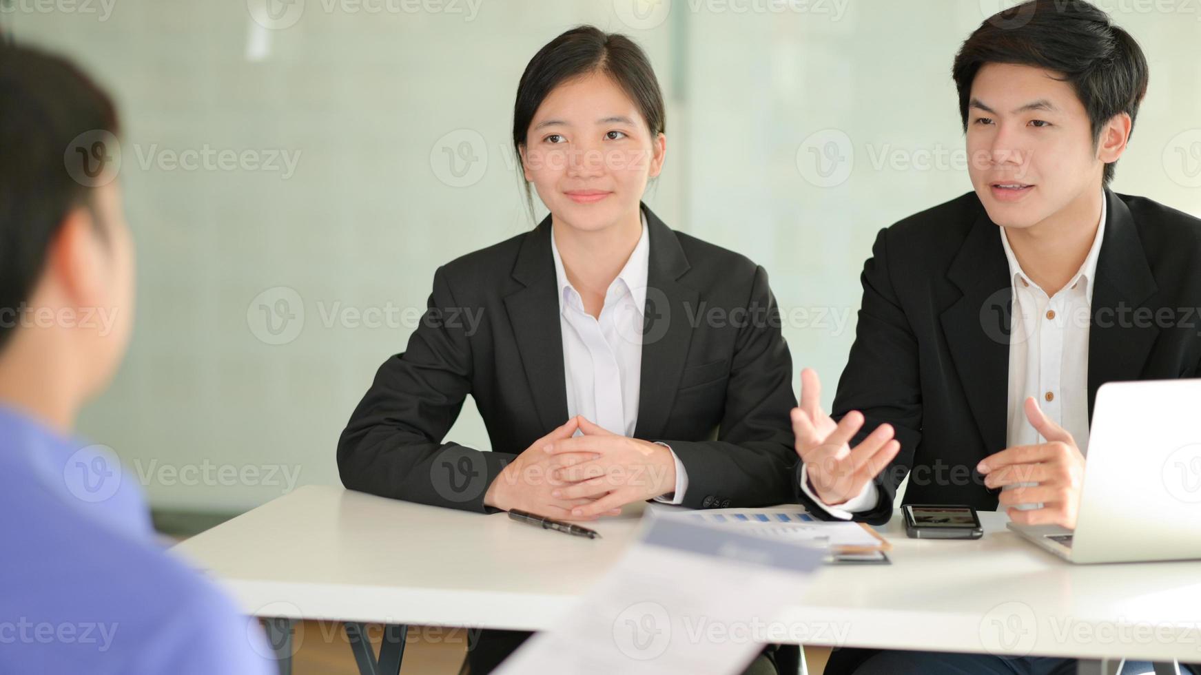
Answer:
[{"label": "face of the man in the black blazer, mouth slightly open", "polygon": [[1028,228],[1099,190],[1105,171],[1083,103],[1056,73],[986,64],[972,83],[972,185],[999,226]]}]

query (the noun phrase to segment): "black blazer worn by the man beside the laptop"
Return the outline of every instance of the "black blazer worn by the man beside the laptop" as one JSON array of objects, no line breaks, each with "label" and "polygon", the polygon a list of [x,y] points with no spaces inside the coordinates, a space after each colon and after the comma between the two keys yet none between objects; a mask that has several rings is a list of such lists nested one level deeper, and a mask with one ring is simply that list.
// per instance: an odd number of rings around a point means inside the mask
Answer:
[{"label": "black blazer worn by the man beside the laptop", "polygon": [[[1141,197],[1106,191],[1106,199],[1088,338],[1089,419],[1106,382],[1201,376],[1201,221]],[[888,521],[907,473],[904,503],[997,508],[999,490],[975,471],[1005,448],[1008,426],[1012,291],[997,229],[970,192],[876,239],[833,416],[864,412],[855,442],[894,425],[901,452],[877,479],[879,506],[858,519]]]}]

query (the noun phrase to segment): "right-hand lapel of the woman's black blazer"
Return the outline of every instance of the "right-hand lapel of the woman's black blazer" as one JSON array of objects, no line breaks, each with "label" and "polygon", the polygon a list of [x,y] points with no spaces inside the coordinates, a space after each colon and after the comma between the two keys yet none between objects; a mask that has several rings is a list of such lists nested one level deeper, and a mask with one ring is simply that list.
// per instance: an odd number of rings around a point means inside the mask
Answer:
[{"label": "right-hand lapel of the woman's black blazer", "polygon": [[698,316],[697,292],[676,282],[688,271],[688,258],[675,233],[650,209],[646,226],[651,239],[646,276],[646,306],[643,329],[643,366],[638,394],[638,425],[634,436],[656,438],[667,426],[683,375],[689,318]]}]

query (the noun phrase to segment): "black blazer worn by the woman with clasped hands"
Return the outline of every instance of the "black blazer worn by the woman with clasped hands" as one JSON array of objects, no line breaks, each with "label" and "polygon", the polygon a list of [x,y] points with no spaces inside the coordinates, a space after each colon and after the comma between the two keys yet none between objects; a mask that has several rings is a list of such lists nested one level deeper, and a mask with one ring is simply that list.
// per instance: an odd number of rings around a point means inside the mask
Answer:
[{"label": "black blazer worn by the woman with clasped hands", "polygon": [[[688,507],[791,501],[796,399],[766,271],[643,209],[650,268],[634,436],[675,450]],[[730,321],[711,321],[713,310]],[[468,394],[492,452],[444,441]],[[548,217],[438,268],[407,351],[380,368],[342,431],[337,468],[352,490],[485,512],[504,465],[564,422]]]}]

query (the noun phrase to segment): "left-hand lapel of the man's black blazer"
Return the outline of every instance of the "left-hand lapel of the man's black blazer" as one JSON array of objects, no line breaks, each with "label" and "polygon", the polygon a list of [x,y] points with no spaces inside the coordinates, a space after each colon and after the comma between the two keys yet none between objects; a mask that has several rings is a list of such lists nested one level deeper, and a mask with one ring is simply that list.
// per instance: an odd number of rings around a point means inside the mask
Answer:
[{"label": "left-hand lapel of the man's black blazer", "polygon": [[985,454],[996,453],[1006,441],[1012,280],[998,226],[982,208],[948,277],[963,295],[942,315],[946,346]]}]

